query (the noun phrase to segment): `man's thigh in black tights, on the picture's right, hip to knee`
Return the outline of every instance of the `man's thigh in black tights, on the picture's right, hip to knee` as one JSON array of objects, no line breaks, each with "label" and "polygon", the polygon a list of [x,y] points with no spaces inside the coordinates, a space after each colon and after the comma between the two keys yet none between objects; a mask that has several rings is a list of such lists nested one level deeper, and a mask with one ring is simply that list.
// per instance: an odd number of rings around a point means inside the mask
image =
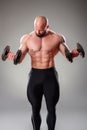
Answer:
[{"label": "man's thigh in black tights, on the picture's right, hip to knee", "polygon": [[44,82],[44,96],[47,107],[55,106],[59,100],[59,82],[56,75],[52,75]]}]

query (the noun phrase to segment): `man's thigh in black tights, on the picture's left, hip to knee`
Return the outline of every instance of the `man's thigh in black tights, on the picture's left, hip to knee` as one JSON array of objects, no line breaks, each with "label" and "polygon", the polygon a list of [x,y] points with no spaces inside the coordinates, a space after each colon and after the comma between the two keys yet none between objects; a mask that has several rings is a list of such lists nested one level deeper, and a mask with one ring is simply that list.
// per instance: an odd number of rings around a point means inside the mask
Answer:
[{"label": "man's thigh in black tights, on the picture's left, hip to knee", "polygon": [[39,80],[37,81],[35,75],[31,75],[29,77],[29,82],[27,85],[27,97],[32,106],[41,105],[43,95],[42,85],[39,84]]}]

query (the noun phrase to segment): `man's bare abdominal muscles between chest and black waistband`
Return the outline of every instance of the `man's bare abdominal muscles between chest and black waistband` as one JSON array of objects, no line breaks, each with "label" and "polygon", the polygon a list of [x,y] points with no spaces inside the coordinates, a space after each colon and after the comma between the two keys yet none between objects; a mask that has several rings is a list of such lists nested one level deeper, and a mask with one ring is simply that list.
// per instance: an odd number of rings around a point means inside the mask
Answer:
[{"label": "man's bare abdominal muscles between chest and black waistband", "polygon": [[53,51],[33,51],[29,52],[31,56],[31,66],[33,68],[50,68],[54,66],[54,52]]}]

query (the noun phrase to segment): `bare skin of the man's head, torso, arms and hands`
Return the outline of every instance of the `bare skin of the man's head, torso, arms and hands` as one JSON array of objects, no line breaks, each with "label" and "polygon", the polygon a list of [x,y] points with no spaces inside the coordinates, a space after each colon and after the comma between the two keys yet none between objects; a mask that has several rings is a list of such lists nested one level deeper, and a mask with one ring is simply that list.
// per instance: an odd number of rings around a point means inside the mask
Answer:
[{"label": "bare skin of the man's head, torso, arms and hands", "polygon": [[[24,35],[20,40],[19,49],[22,51],[20,63],[28,53],[31,57],[32,68],[50,68],[55,66],[54,57],[59,51],[66,57],[65,48],[68,47],[63,36],[49,29],[45,17],[38,16],[34,21],[34,31]],[[73,49],[71,52],[73,58],[79,55],[77,49]],[[8,58],[13,60],[14,54],[10,52]]]}]

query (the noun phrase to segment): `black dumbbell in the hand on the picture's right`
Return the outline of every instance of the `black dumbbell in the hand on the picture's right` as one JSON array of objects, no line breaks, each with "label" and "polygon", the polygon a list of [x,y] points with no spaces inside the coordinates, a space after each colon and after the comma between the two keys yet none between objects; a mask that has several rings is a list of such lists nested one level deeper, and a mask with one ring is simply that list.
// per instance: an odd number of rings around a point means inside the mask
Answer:
[{"label": "black dumbbell in the hand on the picture's right", "polygon": [[[85,51],[80,43],[77,43],[77,51],[82,56],[82,58],[85,57]],[[70,62],[73,62],[72,53],[70,53],[70,51],[67,48],[65,48],[65,55]]]}]

